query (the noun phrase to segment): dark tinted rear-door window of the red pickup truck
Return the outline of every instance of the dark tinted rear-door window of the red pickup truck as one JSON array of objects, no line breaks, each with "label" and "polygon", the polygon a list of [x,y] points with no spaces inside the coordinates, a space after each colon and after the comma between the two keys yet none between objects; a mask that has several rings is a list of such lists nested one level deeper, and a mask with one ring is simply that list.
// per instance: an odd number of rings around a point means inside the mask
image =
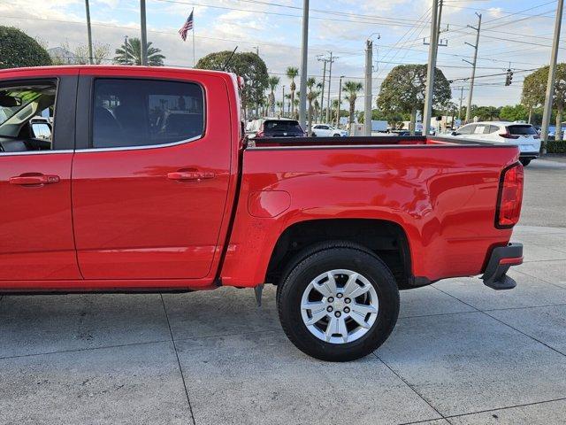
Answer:
[{"label": "dark tinted rear-door window of the red pickup truck", "polygon": [[204,94],[193,82],[95,81],[92,147],[137,147],[203,135]]}]

